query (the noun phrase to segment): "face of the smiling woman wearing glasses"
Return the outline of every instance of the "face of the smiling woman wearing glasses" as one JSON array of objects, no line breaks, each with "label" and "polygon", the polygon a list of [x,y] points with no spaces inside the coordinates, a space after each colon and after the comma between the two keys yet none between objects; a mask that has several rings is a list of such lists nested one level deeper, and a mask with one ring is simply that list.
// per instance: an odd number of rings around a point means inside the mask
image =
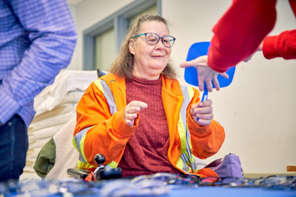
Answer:
[{"label": "face of the smiling woman wearing glasses", "polygon": [[[156,33],[160,37],[169,35],[167,26],[158,21],[146,21],[142,24],[141,33]],[[165,47],[161,38],[155,45],[146,42],[145,35],[130,39],[130,53],[134,55],[133,75],[139,78],[156,80],[168,64],[171,48]]]}]

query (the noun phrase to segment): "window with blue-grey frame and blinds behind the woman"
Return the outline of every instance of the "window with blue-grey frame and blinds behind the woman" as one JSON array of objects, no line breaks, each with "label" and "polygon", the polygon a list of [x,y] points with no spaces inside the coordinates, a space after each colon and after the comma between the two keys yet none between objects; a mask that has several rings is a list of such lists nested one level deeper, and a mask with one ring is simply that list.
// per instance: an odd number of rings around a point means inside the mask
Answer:
[{"label": "window with blue-grey frame and blinds behind the woman", "polygon": [[128,28],[142,14],[161,15],[161,0],[135,0],[83,32],[83,69],[108,71]]}]

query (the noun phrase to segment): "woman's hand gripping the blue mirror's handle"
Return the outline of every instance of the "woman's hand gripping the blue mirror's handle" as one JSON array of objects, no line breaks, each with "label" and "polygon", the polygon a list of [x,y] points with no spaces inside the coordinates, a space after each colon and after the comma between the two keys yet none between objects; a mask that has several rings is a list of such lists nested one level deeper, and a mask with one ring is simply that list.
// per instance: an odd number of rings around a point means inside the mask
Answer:
[{"label": "woman's hand gripping the blue mirror's handle", "polygon": [[[214,118],[212,100],[195,103],[190,108],[190,114],[195,123],[199,126],[210,125]],[[199,118],[197,121],[196,118]]]}]

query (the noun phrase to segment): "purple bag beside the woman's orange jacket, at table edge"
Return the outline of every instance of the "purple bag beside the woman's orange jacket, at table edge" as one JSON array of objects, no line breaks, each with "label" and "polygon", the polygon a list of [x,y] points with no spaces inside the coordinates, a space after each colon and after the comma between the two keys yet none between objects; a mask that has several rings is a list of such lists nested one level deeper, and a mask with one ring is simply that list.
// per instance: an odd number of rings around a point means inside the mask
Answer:
[{"label": "purple bag beside the woman's orange jacket, at table edge", "polygon": [[229,153],[224,158],[215,160],[205,167],[214,170],[222,178],[222,183],[229,183],[244,176],[239,157],[233,153]]}]

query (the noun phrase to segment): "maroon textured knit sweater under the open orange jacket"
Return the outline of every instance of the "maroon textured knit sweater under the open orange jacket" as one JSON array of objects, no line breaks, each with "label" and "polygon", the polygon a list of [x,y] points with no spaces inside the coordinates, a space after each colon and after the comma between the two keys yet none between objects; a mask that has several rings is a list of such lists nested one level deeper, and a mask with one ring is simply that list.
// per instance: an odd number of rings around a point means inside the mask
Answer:
[{"label": "maroon textured knit sweater under the open orange jacket", "polygon": [[180,173],[168,159],[170,137],[161,100],[161,77],[157,80],[137,77],[126,80],[126,102],[133,100],[146,102],[148,107],[140,111],[139,125],[129,138],[118,164],[122,176]]}]

